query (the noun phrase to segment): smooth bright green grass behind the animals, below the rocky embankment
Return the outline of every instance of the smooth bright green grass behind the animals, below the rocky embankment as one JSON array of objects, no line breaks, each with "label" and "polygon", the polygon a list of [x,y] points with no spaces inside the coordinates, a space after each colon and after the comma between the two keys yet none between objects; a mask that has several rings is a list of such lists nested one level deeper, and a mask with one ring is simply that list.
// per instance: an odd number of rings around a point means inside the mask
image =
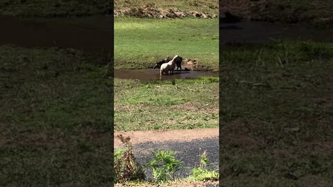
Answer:
[{"label": "smooth bright green grass behind the animals, below the rocky embankment", "polygon": [[218,69],[218,19],[114,19],[115,69],[144,69],[169,55]]}]

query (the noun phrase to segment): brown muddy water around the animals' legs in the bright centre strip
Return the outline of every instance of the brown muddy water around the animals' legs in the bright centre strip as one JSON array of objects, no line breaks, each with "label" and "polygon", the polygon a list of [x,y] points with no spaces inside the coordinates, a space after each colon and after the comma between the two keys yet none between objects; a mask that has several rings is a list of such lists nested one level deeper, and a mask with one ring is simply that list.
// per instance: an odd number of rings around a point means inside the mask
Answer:
[{"label": "brown muddy water around the animals' legs in the bright centre strip", "polygon": [[[219,77],[219,73],[210,71],[174,71],[173,75],[162,75],[162,80]],[[137,80],[160,80],[158,69],[114,69],[114,78],[137,79]]]}]

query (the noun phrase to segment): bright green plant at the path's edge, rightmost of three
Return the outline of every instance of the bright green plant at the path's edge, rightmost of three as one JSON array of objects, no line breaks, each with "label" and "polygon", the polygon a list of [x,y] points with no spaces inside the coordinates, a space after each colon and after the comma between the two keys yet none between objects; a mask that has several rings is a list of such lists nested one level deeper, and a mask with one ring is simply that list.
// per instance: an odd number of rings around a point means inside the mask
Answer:
[{"label": "bright green plant at the path's edge, rightmost of three", "polygon": [[195,181],[217,181],[219,180],[219,172],[216,170],[208,170],[208,159],[206,151],[200,154],[200,166],[191,170],[189,179]]}]

